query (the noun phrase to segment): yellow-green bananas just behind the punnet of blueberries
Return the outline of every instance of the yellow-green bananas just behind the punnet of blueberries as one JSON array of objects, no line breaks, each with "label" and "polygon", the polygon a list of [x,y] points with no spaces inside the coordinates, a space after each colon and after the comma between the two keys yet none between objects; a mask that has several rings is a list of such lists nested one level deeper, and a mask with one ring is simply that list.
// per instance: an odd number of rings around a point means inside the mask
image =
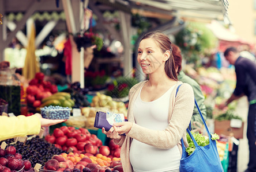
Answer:
[{"label": "yellow-green bananas just behind the punnet of blueberries", "polygon": [[61,107],[72,108],[74,106],[74,100],[71,99],[70,93],[57,92],[51,96],[42,99],[42,104],[39,107],[45,107],[50,105],[59,105]]}]

